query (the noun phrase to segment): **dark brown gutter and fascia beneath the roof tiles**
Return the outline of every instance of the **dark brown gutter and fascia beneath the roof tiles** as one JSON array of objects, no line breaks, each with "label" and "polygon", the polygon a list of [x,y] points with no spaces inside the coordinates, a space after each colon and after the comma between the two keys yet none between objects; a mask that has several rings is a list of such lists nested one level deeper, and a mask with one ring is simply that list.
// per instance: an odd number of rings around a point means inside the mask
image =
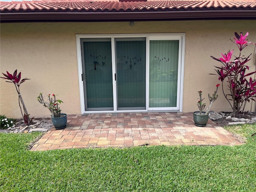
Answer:
[{"label": "dark brown gutter and fascia beneath the roof tiles", "polygon": [[114,22],[157,20],[256,19],[255,11],[1,13],[1,22]]}]

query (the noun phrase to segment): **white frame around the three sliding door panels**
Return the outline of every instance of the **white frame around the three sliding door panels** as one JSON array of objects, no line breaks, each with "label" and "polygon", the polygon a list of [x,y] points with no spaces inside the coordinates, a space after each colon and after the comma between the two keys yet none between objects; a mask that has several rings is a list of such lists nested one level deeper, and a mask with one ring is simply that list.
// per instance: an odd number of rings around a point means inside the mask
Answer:
[{"label": "white frame around the three sliding door panels", "polygon": [[[137,38],[146,37],[146,110],[117,110],[117,94],[116,94],[116,61],[115,61],[115,38]],[[82,52],[81,52],[81,38],[111,38],[112,49],[112,82],[113,82],[113,100],[114,110],[108,111],[85,111],[84,101],[84,85],[82,82]],[[173,108],[149,108],[149,42],[150,40],[179,40],[179,59],[178,59],[178,90],[177,90],[177,105]],[[182,112],[183,102],[183,84],[184,84],[184,55],[185,55],[185,33],[163,33],[163,34],[111,34],[111,35],[76,35],[76,48],[77,48],[77,60],[78,60],[78,80],[80,89],[80,106],[81,114],[85,113],[123,113],[123,112],[148,112],[148,111],[160,111],[160,112]]]}]

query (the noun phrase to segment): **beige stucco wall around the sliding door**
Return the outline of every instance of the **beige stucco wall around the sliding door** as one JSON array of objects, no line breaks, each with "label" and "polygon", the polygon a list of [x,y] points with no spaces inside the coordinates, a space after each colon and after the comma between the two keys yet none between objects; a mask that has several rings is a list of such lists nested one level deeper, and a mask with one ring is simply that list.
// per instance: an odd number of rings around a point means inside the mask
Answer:
[{"label": "beige stucco wall around the sliding door", "polygon": [[[197,110],[197,91],[207,97],[220,83],[214,73],[210,58],[236,49],[229,39],[234,32],[249,31],[248,39],[256,42],[255,20],[224,21],[166,21],[166,22],[96,22],[96,23],[9,23],[0,24],[0,71],[22,72],[22,78],[30,78],[20,86],[22,97],[33,117],[49,116],[48,109],[36,100],[40,92],[59,94],[64,101],[63,112],[80,114],[76,34],[128,34],[128,33],[186,33],[183,112]],[[244,52],[252,53],[254,46]],[[252,60],[248,63],[255,70]],[[255,78],[255,77],[254,77]],[[207,98],[206,101],[208,102]],[[255,104],[247,110],[255,111]],[[231,108],[219,91],[219,98],[212,110],[230,111]],[[0,114],[20,118],[18,95],[13,84],[0,80]]]}]

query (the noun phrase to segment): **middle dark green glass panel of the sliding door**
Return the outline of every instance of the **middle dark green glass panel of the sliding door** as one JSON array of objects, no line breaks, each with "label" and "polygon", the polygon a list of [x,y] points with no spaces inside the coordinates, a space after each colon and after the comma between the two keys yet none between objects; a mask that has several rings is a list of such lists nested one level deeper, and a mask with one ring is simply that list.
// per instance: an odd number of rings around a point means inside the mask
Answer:
[{"label": "middle dark green glass panel of the sliding door", "polygon": [[116,70],[118,109],[145,109],[145,38],[116,39]]}]

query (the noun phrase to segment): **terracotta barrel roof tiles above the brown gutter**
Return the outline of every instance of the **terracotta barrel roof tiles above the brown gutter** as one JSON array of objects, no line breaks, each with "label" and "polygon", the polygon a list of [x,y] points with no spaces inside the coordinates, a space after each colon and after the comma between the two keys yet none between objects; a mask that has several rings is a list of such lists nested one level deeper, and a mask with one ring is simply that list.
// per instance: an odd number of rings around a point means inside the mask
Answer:
[{"label": "terracotta barrel roof tiles above the brown gutter", "polygon": [[237,1],[204,1],[204,0],[148,0],[134,2],[89,1],[89,0],[33,0],[0,2],[0,11],[37,11],[42,10],[90,10],[100,12],[140,11],[140,10],[172,10],[202,8],[256,8],[256,0]]}]

